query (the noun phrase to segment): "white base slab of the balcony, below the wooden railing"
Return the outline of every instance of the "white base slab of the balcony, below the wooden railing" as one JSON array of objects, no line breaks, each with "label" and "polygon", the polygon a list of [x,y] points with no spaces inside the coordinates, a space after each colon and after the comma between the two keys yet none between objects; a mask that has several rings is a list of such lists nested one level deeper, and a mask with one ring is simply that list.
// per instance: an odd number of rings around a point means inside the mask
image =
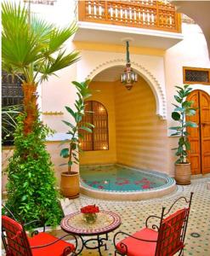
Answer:
[{"label": "white base slab of the balcony, below the wooden railing", "polygon": [[183,39],[181,33],[132,26],[106,25],[84,21],[78,21],[77,25],[78,30],[73,41],[124,44],[122,43],[123,38],[132,38],[133,46],[169,49]]}]

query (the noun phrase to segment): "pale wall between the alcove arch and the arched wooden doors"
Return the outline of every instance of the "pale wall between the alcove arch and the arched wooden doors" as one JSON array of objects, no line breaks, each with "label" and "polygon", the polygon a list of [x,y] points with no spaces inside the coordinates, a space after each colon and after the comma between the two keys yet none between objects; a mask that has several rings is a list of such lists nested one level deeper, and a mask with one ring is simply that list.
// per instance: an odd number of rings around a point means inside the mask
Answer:
[{"label": "pale wall between the alcove arch and the arched wooden doors", "polygon": [[[171,119],[173,111],[172,103],[175,103],[173,96],[176,94],[175,85],[183,84],[183,67],[209,68],[207,42],[199,26],[195,24],[183,24],[182,31],[184,40],[172,48],[167,49],[164,57],[165,78],[167,87],[167,127],[174,126]],[[193,90],[204,90],[210,95],[210,86],[192,84]],[[168,132],[169,134],[169,132]],[[178,137],[168,137],[168,172],[173,174],[174,151],[171,148],[177,146]]]}]

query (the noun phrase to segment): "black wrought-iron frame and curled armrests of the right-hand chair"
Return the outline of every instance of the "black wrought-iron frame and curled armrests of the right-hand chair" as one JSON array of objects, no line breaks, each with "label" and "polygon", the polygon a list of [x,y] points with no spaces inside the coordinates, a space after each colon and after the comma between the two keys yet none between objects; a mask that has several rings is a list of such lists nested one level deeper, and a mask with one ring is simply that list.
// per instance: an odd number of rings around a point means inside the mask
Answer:
[{"label": "black wrought-iron frame and curled armrests of the right-hand chair", "polygon": [[[186,229],[187,229],[187,224],[188,224],[188,218],[189,218],[189,215],[190,215],[190,207],[191,207],[191,200],[192,200],[192,195],[193,195],[193,194],[194,194],[193,192],[190,193],[190,200],[187,200],[186,197],[184,197],[184,196],[180,196],[176,201],[173,202],[172,206],[169,207],[169,209],[168,209],[167,212],[165,212],[166,207],[162,207],[162,214],[161,214],[161,217],[156,216],[156,215],[150,215],[150,216],[149,216],[148,218],[146,218],[146,220],[145,220],[145,227],[148,228],[148,225],[149,225],[149,224],[148,224],[148,221],[149,221],[150,218],[159,218],[159,219],[160,219],[159,226],[157,226],[156,224],[152,224],[152,225],[151,225],[151,229],[152,229],[152,230],[157,230],[157,231],[159,231],[160,227],[162,226],[163,218],[166,217],[169,212],[171,212],[172,208],[174,207],[174,205],[175,205],[178,201],[184,200],[185,203],[188,204],[188,213],[187,213],[186,218],[184,219],[184,224],[183,224],[183,227],[182,227],[183,233],[182,233],[182,236],[181,236],[181,241],[184,243],[184,238],[185,238],[185,235],[186,235]],[[114,236],[114,238],[113,238],[115,248],[116,248],[116,243],[117,243],[117,242],[116,242],[116,236],[118,236],[119,234],[122,234],[123,236],[132,237],[132,238],[135,239],[135,240],[146,241],[146,242],[157,242],[157,241],[158,241],[158,236],[159,236],[159,234],[158,234],[156,240],[146,240],[146,239],[141,239],[141,238],[138,238],[138,237],[135,237],[135,236],[131,236],[131,235],[129,235],[128,233],[123,232],[123,231],[118,231],[118,232],[116,232],[116,234],[115,234],[115,236]],[[122,248],[123,253],[119,252],[119,251],[117,250],[117,248],[116,248],[116,250],[115,250],[115,256],[116,256],[117,254],[122,255],[122,256],[127,255],[127,254],[128,254],[128,246],[127,246],[125,243],[121,242],[121,243],[120,243],[120,247]],[[180,249],[179,256],[180,256],[180,255],[183,255],[183,249],[184,249],[184,248]],[[158,256],[157,252],[155,253],[154,256]]]}]

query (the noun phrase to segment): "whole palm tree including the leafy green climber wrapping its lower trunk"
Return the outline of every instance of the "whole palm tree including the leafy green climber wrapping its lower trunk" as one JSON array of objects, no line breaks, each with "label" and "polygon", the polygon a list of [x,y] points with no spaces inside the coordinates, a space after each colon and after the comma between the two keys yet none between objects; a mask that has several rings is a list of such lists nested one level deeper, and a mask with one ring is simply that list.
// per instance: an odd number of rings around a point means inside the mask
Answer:
[{"label": "whole palm tree including the leafy green climber wrapping its lower trunk", "polygon": [[67,54],[63,48],[77,26],[58,29],[31,16],[20,4],[7,2],[2,4],[2,25],[2,67],[21,80],[24,93],[24,111],[7,168],[7,207],[21,222],[41,218],[47,224],[59,224],[59,192],[44,144],[50,130],[39,119],[37,85],[78,60],[77,52]]}]

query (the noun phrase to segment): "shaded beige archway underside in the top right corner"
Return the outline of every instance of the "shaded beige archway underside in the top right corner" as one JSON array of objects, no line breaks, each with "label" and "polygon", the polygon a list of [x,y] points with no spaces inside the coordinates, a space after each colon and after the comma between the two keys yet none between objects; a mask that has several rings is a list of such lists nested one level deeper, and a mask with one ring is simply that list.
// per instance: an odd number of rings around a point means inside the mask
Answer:
[{"label": "shaded beige archway underside in the top right corner", "polygon": [[178,12],[188,15],[201,27],[210,58],[210,1],[171,1]]}]

